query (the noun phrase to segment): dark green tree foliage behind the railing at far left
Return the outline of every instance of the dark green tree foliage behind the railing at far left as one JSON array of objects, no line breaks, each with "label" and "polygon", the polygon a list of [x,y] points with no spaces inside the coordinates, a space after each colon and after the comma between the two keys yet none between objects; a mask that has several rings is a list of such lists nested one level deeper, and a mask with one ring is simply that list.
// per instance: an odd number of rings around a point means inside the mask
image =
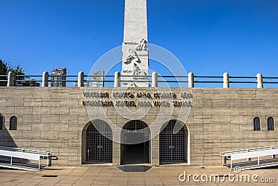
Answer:
[{"label": "dark green tree foliage behind the railing at far left", "polygon": [[[15,86],[30,86],[30,82],[28,82],[28,79],[30,77],[26,77],[26,76],[22,77],[22,75],[25,75],[25,71],[22,69],[22,67],[19,64],[17,64],[17,66],[13,66],[10,65],[10,63],[5,63],[0,59],[0,75],[6,75],[6,77],[0,77],[1,80],[7,79],[8,72],[14,72]],[[0,86],[6,86],[6,85],[7,82],[0,82]]]}]

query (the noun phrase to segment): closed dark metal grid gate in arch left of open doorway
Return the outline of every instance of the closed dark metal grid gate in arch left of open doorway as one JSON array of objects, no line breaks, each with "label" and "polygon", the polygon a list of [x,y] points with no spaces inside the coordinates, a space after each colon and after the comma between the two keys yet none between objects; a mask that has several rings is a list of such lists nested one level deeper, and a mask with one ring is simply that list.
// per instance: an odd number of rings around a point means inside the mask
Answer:
[{"label": "closed dark metal grid gate in arch left of open doorway", "polygon": [[111,127],[104,121],[94,121],[94,125],[91,123],[87,129],[86,161],[112,162]]}]

